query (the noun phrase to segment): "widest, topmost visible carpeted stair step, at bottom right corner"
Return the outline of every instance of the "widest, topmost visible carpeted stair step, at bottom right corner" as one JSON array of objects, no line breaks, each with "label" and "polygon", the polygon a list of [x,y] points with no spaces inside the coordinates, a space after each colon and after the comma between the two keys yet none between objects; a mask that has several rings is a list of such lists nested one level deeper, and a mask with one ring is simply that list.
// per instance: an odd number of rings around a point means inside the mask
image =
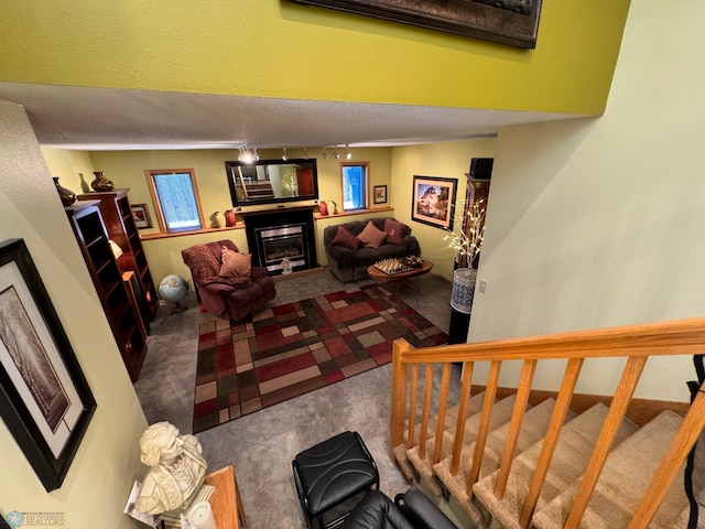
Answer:
[{"label": "widest, topmost visible carpeted stair step, at bottom right corner", "polygon": [[[641,497],[661,463],[683,419],[664,411],[623,441],[607,457],[581,527],[618,529],[631,521]],[[652,528],[685,527],[679,520],[688,509],[681,468],[657,511]],[[567,487],[533,517],[539,529],[558,529],[565,525],[579,481]],[[688,510],[690,511],[690,510]]]}]

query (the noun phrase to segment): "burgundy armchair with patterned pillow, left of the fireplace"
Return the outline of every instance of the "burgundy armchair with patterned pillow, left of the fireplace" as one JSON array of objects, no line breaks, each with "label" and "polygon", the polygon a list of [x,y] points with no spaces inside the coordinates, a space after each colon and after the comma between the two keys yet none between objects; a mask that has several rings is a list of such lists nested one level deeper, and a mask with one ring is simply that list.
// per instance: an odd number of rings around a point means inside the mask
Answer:
[{"label": "burgundy armchair with patterned pillow, left of the fireplace", "polygon": [[182,251],[203,309],[226,320],[242,320],[276,295],[265,268],[252,267],[250,253],[231,240],[195,245]]}]

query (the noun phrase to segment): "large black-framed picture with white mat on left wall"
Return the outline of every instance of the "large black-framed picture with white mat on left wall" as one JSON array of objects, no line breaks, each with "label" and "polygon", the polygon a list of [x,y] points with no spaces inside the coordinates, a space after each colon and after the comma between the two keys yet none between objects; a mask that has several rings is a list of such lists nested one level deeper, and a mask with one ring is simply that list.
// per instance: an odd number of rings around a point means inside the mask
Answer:
[{"label": "large black-framed picture with white mat on left wall", "polygon": [[95,410],[24,240],[0,242],[0,417],[47,492],[61,487]]}]

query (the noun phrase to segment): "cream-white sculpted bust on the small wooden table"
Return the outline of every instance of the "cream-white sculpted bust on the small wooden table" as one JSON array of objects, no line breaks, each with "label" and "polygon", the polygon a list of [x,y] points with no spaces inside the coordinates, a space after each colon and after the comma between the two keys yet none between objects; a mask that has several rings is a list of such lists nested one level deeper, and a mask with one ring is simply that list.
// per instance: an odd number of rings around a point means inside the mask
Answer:
[{"label": "cream-white sculpted bust on the small wooden table", "polygon": [[203,484],[206,461],[193,435],[180,435],[169,422],[158,422],[140,438],[140,460],[150,469],[144,476],[135,507],[148,515],[174,510]]}]

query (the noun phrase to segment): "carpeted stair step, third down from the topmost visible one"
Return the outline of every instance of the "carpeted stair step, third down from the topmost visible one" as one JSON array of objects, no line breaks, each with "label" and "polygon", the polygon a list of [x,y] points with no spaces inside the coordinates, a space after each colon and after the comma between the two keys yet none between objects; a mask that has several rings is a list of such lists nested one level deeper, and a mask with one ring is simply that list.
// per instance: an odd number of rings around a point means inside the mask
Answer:
[{"label": "carpeted stair step, third down from the topmost visible one", "polygon": [[[539,403],[534,408],[531,408],[524,414],[521,423],[521,433],[517,441],[517,452],[521,453],[529,449],[536,441],[540,441],[545,435],[549,429],[549,422],[551,420],[551,413],[553,413],[553,406],[555,399],[550,398]],[[566,422],[575,418],[573,411],[568,411],[566,415]],[[509,421],[501,427],[492,430],[487,436],[487,443],[485,445],[485,455],[482,456],[482,467],[480,469],[480,478],[491,474],[501,463],[502,453],[505,452],[505,443],[507,441],[507,433],[509,432]],[[451,494],[459,501],[465,508],[466,512],[476,523],[480,523],[480,514],[477,508],[470,503],[467,494],[467,479],[473,467],[473,456],[475,455],[475,444],[463,446],[460,453],[460,466],[457,475],[451,475],[451,458],[446,457],[441,463],[433,466],[435,475],[441,479]]]}]

